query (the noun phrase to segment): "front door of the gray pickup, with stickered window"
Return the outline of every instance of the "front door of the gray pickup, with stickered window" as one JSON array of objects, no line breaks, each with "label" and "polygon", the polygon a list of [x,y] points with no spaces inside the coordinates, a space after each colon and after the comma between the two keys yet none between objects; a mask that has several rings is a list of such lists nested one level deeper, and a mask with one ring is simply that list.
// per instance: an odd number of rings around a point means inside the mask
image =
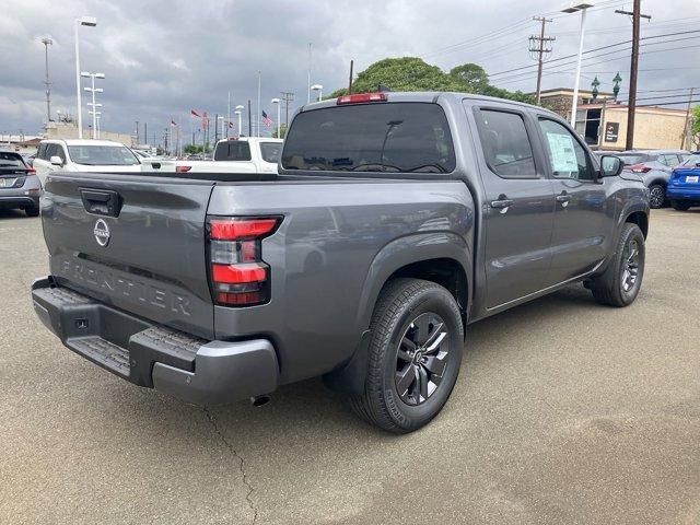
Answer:
[{"label": "front door of the gray pickup, with stickered window", "polygon": [[547,284],[553,285],[588,272],[605,259],[614,230],[615,202],[607,198],[612,179],[598,178],[588,151],[563,122],[545,116],[537,121],[555,194],[547,277]]}]

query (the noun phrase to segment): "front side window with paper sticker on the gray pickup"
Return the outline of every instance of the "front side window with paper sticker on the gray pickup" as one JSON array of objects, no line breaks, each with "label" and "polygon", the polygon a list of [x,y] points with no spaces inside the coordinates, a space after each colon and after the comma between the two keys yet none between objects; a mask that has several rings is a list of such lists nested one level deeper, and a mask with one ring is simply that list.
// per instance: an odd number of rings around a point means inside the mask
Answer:
[{"label": "front side window with paper sticker on the gray pickup", "polygon": [[552,176],[593,180],[594,173],[588,155],[574,136],[555,120],[540,118],[538,121],[545,137],[545,148]]}]

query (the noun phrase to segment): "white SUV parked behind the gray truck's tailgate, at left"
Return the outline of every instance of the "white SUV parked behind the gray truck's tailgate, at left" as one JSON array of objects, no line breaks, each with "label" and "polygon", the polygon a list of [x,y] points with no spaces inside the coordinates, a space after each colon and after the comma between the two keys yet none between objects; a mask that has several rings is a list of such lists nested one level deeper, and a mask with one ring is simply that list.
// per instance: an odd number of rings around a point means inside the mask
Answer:
[{"label": "white SUV parked behind the gray truck's tailgate, at left", "polygon": [[49,139],[39,142],[34,168],[42,184],[49,173],[140,172],[141,161],[120,142],[92,139]]}]

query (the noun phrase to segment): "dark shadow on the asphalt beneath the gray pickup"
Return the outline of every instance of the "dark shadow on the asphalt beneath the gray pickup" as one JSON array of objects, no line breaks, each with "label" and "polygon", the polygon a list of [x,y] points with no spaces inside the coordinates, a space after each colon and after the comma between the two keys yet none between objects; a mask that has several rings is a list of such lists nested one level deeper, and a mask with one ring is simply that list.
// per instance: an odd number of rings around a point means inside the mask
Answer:
[{"label": "dark shadow on the asphalt beneath the gray pickup", "polygon": [[[453,408],[458,405],[459,396],[468,395],[471,366],[475,363],[478,365],[479,362],[488,361],[489,353],[499,351],[499,345],[493,343],[494,339],[503,340],[511,337],[518,339],[523,332],[532,332],[533,326],[541,330],[553,330],[556,326],[561,326],[563,319],[591,315],[591,312],[599,311],[602,307],[604,306],[595,303],[591,293],[579,284],[470,325],[463,368],[447,408],[451,405]],[[113,399],[112,402],[106,400],[110,406],[105,410],[106,412],[114,409],[116,412],[124,412],[125,418],[138,420],[152,419],[153,411],[156,411],[156,419],[164,418],[161,421],[164,427],[173,428],[172,421],[167,421],[171,416],[178,418],[184,411],[202,411],[200,407],[183,405],[177,399],[153,390],[135,389],[131,385],[125,385],[124,388],[128,388],[131,392],[130,396],[133,396],[131,399],[133,402],[129,404],[131,405],[129,409],[115,405]],[[139,415],[139,411],[148,413]],[[284,385],[273,393],[271,401],[262,407],[236,402],[210,407],[207,411],[215,419],[217,430],[225,435],[228,441],[238,443],[246,448],[254,446],[260,452],[280,446],[279,442],[289,440],[304,442],[318,440],[319,436],[326,442],[332,439],[347,441],[353,436],[365,440],[365,443],[368,439],[395,440],[395,436],[376,430],[354,417],[345,407],[340,396],[327,389],[320,380]],[[444,413],[445,411],[443,410],[438,420],[450,417],[448,413]],[[115,413],[110,412],[110,417],[114,416]],[[202,418],[203,421],[207,419]],[[289,443],[285,444],[289,445]]]}]

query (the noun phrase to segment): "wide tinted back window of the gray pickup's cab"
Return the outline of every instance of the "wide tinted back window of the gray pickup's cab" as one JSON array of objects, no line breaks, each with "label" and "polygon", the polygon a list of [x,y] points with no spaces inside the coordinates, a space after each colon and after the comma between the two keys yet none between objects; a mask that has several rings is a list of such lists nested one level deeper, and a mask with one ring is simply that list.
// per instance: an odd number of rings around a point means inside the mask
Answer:
[{"label": "wide tinted back window of the gray pickup's cab", "polygon": [[398,102],[326,107],[294,118],[287,170],[450,173],[455,153],[438,104]]}]

